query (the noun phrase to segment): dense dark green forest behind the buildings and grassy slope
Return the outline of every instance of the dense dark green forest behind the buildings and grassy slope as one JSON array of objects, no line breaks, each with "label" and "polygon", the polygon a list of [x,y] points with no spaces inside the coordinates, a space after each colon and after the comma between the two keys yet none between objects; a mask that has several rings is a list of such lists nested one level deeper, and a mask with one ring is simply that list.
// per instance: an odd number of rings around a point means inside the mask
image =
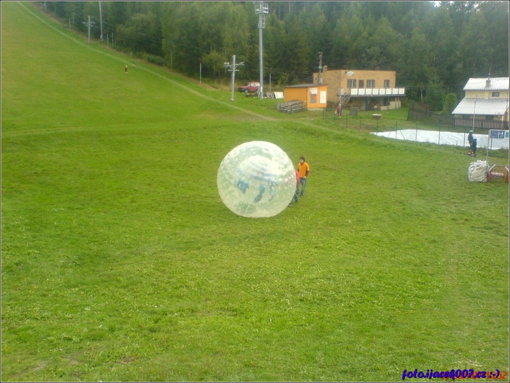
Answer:
[{"label": "dense dark green forest behind the buildings and grassy slope", "polygon": [[[259,78],[258,2],[36,2],[71,29],[189,76],[228,76],[236,55],[240,82]],[[508,76],[508,1],[269,1],[263,30],[264,78],[310,83],[329,69],[386,69],[397,86],[423,94],[463,96],[472,77]],[[432,100],[431,100],[432,101]],[[440,105],[438,105],[440,109]],[[438,109],[436,108],[436,109]]]}]

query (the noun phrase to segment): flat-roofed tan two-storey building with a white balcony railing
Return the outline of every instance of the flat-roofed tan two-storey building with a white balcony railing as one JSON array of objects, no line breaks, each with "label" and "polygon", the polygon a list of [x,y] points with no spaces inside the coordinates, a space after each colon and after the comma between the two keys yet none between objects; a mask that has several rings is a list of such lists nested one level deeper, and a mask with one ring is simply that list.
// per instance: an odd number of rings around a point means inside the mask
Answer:
[{"label": "flat-roofed tan two-storey building with a white balcony railing", "polygon": [[396,88],[397,74],[394,70],[358,70],[323,67],[314,73],[314,82],[327,84],[327,101],[342,103],[344,107],[360,110],[397,109],[405,96],[404,88]]}]

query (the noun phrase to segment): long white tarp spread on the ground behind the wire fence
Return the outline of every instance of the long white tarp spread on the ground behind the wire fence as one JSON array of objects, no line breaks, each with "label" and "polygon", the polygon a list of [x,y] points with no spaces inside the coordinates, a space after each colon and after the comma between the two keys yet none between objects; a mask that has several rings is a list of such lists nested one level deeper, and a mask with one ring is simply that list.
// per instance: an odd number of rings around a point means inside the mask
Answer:
[{"label": "long white tarp spread on the ground behind the wire fence", "polygon": [[[417,129],[406,129],[392,132],[374,132],[372,134],[380,137],[395,138],[397,140],[430,142],[440,145],[443,144],[469,147],[467,133],[434,132]],[[489,146],[489,149],[507,149],[510,147],[510,140],[508,139],[489,139],[488,134],[474,134],[473,136],[477,140],[477,148],[487,148],[487,146]]]}]

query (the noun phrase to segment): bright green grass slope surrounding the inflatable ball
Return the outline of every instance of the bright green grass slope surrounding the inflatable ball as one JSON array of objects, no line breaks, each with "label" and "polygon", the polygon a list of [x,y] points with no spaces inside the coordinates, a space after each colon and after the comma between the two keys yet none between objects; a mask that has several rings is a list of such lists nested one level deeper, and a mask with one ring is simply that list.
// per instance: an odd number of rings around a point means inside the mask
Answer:
[{"label": "bright green grass slope surrounding the inflatable ball", "polygon": [[[129,57],[1,7],[2,381],[508,371],[508,185],[470,183],[465,149],[125,75]],[[311,166],[271,218],[217,191],[251,140]]]}]

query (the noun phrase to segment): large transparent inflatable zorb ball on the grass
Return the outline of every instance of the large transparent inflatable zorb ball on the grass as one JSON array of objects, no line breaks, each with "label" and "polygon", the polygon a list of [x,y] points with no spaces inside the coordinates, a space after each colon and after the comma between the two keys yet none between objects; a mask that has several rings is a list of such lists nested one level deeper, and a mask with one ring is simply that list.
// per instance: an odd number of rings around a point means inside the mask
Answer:
[{"label": "large transparent inflatable zorb ball on the grass", "polygon": [[218,169],[218,191],[225,206],[243,217],[281,213],[296,191],[296,171],[286,152],[265,141],[232,149]]}]

